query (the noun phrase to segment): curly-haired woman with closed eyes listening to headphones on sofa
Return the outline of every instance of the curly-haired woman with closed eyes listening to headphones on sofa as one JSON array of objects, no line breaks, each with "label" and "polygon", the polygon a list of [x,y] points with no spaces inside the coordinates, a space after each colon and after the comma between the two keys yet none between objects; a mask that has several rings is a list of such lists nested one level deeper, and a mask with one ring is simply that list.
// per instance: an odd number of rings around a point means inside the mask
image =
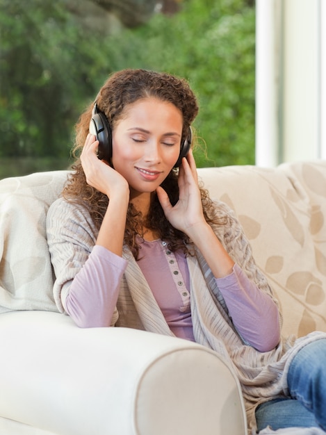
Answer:
[{"label": "curly-haired woman with closed eyes listening to headphones on sofa", "polygon": [[325,334],[282,342],[277,300],[240,224],[199,188],[197,111],[183,79],[127,69],[81,115],[81,155],[47,219],[58,309],[80,327],[146,329],[222,354],[253,433],[326,429]]}]

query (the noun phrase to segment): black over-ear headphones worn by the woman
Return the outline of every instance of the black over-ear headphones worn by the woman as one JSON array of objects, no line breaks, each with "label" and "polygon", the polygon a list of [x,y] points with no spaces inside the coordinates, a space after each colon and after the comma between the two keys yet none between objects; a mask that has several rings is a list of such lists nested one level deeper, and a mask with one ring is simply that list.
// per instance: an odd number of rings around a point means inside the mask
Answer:
[{"label": "black over-ear headphones worn by the woman", "polygon": [[[108,163],[111,163],[112,158],[112,131],[111,126],[108,124],[108,120],[106,119],[106,115],[99,110],[97,104],[94,104],[94,108],[92,110],[92,118],[90,120],[90,133],[93,134],[96,139],[99,141],[99,150],[97,156],[99,160],[104,159]],[[189,127],[188,137],[181,144],[180,154],[175,163],[174,167],[179,167],[181,165],[182,158],[186,157],[188,151],[191,146],[191,142],[193,142],[193,131],[191,127]]]}]

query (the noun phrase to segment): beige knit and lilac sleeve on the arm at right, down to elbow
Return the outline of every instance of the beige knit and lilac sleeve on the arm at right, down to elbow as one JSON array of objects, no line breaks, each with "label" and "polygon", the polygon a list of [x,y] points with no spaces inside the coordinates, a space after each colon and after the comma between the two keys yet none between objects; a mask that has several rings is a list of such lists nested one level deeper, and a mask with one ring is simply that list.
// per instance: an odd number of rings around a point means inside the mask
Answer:
[{"label": "beige knit and lilac sleeve on the arm at right, down to elbow", "polygon": [[282,315],[279,303],[256,265],[250,243],[234,211],[227,204],[217,202],[215,213],[224,224],[215,225],[213,229],[236,263],[231,277],[216,280],[219,291],[241,337],[265,352],[280,340]]}]

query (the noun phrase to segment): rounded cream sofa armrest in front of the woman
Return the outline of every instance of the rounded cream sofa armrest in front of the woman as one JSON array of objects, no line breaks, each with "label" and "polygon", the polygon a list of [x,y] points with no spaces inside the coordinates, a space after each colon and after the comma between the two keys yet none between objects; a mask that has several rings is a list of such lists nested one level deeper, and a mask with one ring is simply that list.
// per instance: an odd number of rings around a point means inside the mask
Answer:
[{"label": "rounded cream sofa armrest in front of the woman", "polygon": [[238,380],[196,343],[45,311],[0,315],[0,343],[1,418],[60,435],[246,434]]}]

